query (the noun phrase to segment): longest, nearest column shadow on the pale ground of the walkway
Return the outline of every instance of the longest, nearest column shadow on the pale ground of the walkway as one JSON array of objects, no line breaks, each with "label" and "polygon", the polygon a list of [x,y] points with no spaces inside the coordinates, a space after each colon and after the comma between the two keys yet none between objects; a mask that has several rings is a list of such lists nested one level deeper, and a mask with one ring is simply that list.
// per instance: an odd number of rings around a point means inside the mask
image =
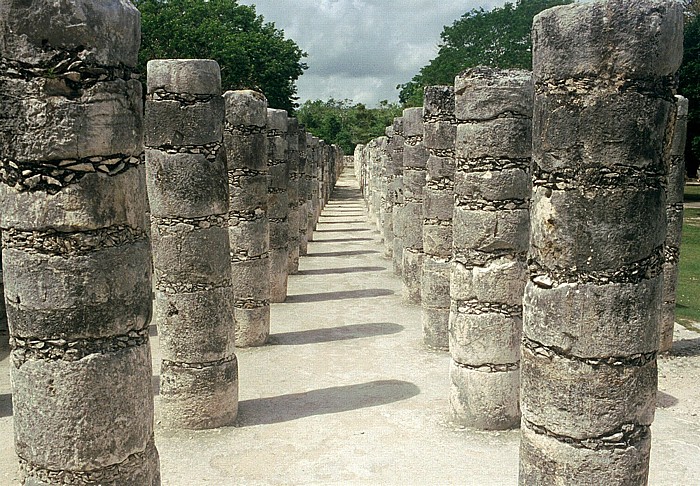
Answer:
[{"label": "longest, nearest column shadow on the pale ground of the walkway", "polygon": [[243,400],[238,404],[238,426],[277,424],[314,415],[377,407],[414,397],[420,389],[401,380],[377,380],[333,386],[278,397]]}]

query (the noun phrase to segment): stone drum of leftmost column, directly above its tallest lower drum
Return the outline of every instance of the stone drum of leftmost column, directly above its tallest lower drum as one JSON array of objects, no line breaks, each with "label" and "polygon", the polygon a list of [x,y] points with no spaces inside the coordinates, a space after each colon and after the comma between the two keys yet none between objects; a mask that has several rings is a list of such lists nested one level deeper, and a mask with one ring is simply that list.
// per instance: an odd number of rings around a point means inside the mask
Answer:
[{"label": "stone drum of leftmost column, directly above its tallest lower drum", "polygon": [[151,319],[149,262],[145,239],[70,257],[3,249],[12,334],[94,339],[144,329]]}]

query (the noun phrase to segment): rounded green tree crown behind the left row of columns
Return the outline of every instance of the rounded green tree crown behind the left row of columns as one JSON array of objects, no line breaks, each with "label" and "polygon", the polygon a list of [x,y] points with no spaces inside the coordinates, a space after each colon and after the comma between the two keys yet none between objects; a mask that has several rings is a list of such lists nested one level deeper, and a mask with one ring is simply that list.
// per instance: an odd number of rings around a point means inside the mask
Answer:
[{"label": "rounded green tree crown behind the left row of columns", "polygon": [[136,0],[141,11],[139,66],[150,59],[214,59],[224,91],[257,89],[271,108],[293,112],[306,53],[254,7],[236,0]]}]

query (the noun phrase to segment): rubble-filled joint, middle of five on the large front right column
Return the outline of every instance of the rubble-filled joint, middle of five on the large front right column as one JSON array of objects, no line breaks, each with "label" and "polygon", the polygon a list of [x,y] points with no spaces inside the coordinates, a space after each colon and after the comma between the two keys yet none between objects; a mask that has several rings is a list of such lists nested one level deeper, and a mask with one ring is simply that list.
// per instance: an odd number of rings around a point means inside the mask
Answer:
[{"label": "rubble-filled joint, middle of five on the large front right column", "polygon": [[540,288],[549,289],[567,283],[597,285],[640,283],[663,273],[664,246],[655,248],[648,257],[622,265],[613,270],[586,272],[576,266],[547,268],[534,258],[528,259],[530,280]]}]

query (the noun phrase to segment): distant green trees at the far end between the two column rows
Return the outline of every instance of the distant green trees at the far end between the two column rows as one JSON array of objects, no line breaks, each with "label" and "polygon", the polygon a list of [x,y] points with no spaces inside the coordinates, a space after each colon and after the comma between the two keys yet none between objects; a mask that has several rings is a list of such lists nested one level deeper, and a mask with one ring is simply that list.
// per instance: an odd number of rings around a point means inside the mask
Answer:
[{"label": "distant green trees at the far end between the two column rows", "polygon": [[359,143],[384,135],[394,118],[401,116],[401,107],[382,101],[378,108],[367,108],[351,100],[307,101],[297,111],[306,130],[326,143],[337,144],[343,153],[352,154]]}]

